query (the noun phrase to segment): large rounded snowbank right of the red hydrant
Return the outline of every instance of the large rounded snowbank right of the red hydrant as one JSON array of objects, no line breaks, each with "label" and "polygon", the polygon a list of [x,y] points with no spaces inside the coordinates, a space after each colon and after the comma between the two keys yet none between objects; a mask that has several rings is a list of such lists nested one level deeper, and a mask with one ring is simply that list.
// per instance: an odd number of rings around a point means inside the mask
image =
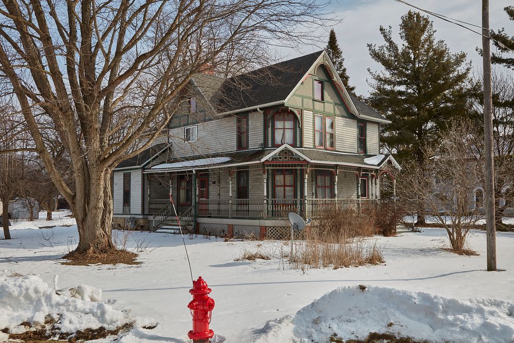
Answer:
[{"label": "large rounded snowbank right of the red hydrant", "polygon": [[295,315],[268,321],[257,342],[324,342],[333,334],[363,339],[370,332],[431,342],[514,341],[514,302],[359,287],[337,288]]}]

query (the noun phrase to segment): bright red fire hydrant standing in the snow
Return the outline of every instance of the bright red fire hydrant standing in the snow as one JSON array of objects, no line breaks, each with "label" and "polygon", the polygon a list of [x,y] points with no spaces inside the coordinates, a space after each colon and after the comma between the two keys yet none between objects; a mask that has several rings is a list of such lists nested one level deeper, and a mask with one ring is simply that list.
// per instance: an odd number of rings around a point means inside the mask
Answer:
[{"label": "bright red fire hydrant standing in the snow", "polygon": [[193,330],[188,332],[188,337],[195,343],[208,342],[209,338],[214,336],[214,331],[209,329],[211,313],[214,309],[214,299],[209,297],[211,291],[201,276],[198,277],[198,280],[193,281],[193,288],[189,290],[189,293],[193,295],[193,300],[188,304],[193,316]]}]

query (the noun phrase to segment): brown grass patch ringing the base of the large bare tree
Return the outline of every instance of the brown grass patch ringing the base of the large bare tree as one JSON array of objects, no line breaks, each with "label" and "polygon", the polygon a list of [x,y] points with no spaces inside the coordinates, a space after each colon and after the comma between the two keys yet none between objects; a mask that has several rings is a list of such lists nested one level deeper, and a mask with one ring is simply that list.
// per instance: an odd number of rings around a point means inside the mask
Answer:
[{"label": "brown grass patch ringing the base of the large bare tree", "polygon": [[128,250],[114,249],[105,253],[92,254],[90,252],[69,252],[61,262],[65,265],[91,265],[91,264],[140,264],[136,261],[137,254]]}]

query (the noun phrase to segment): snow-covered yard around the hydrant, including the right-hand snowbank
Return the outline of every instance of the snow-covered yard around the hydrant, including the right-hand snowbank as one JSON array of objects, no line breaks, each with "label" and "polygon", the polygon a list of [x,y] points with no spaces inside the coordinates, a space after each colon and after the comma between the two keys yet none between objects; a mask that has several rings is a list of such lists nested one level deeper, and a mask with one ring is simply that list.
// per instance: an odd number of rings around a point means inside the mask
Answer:
[{"label": "snow-covered yard around the hydrant, including the right-hand snowbank", "polygon": [[[42,222],[36,226],[48,226]],[[0,269],[39,275],[50,288],[55,275],[59,275],[59,288],[78,284],[101,288],[103,301],[111,299],[113,311],[130,309],[135,318],[152,318],[159,323],[153,330],[136,328],[122,342],[188,341],[191,277],[180,236],[135,232],[133,239],[148,246],[139,256],[139,265],[69,266],[56,260],[73,248],[78,239],[76,227],[31,229],[34,227],[32,223],[16,223],[11,231],[13,240],[0,241]],[[254,251],[259,244],[263,252],[279,255],[278,251],[288,249],[282,242],[186,237],[186,244],[193,276],[201,275],[212,288],[216,306],[211,328],[219,335],[218,342],[223,338],[226,342],[301,342],[292,337],[303,335],[309,320],[311,328],[319,328],[312,339],[321,333],[328,337],[331,330],[341,336],[348,325],[343,320],[347,320],[362,332],[389,330],[407,335],[425,328],[430,338],[436,339],[462,327],[463,339],[455,341],[473,342],[466,337],[473,332],[480,337],[480,332],[487,334],[487,330],[491,336],[482,341],[513,341],[514,233],[497,236],[498,266],[505,269],[503,272],[484,271],[483,231],[472,231],[468,236],[469,248],[480,256],[458,256],[442,250],[447,239],[441,229],[373,239],[382,247],[386,260],[382,265],[303,271],[288,269],[287,264],[284,268],[280,259],[234,261],[243,250]],[[130,244],[135,246],[136,242]],[[365,292],[357,288],[360,284],[367,287]],[[334,291],[338,287],[343,288]],[[424,307],[414,306],[416,299],[423,301]],[[386,321],[394,322],[391,328],[383,328]],[[340,325],[335,328],[334,322]],[[433,334],[439,329],[447,331]]]}]

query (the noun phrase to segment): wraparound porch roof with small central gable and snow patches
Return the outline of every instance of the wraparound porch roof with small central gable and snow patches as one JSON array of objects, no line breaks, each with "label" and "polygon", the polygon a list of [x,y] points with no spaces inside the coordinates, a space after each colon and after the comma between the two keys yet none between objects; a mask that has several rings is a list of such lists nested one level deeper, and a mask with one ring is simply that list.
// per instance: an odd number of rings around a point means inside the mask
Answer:
[{"label": "wraparound porch roof with small central gable and snow patches", "polygon": [[[293,148],[284,145],[279,148],[255,149],[245,151],[235,151],[224,154],[214,154],[208,156],[194,156],[183,159],[173,159],[168,163],[160,163],[148,166],[145,173],[176,172],[193,169],[213,169],[236,167],[245,165],[262,164],[271,161],[273,156],[277,156],[282,150],[288,149],[300,156],[309,164],[340,165],[350,167],[362,167],[369,169],[379,169],[384,161],[394,158],[391,155],[369,155],[351,154],[335,151],[326,151],[310,148]],[[280,164],[280,161],[276,162]]]}]

